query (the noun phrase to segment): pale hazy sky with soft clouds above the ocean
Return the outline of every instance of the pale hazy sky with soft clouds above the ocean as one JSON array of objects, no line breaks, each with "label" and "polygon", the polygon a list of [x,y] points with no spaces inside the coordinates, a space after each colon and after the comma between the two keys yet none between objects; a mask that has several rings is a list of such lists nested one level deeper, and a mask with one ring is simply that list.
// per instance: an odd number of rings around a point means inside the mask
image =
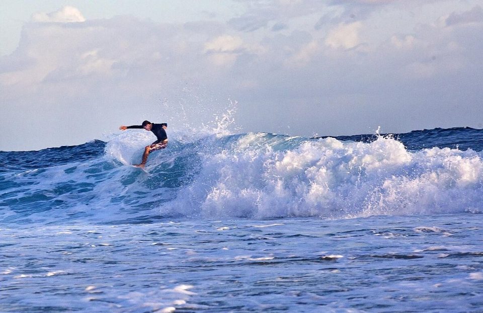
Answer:
[{"label": "pale hazy sky with soft clouds above the ocean", "polygon": [[0,150],[483,128],[481,51],[481,0],[0,0]]}]

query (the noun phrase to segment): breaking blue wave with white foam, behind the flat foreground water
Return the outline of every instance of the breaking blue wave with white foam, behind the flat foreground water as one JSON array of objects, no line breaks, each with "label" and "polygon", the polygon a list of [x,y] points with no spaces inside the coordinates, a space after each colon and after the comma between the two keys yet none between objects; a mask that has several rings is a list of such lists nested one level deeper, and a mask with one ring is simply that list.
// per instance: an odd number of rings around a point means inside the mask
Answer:
[{"label": "breaking blue wave with white foam, behind the flat foreground water", "polygon": [[151,141],[143,133],[0,152],[0,222],[119,224],[483,210],[481,130],[338,139],[267,133],[171,138],[168,148],[149,156],[149,174],[125,165],[140,161]]}]

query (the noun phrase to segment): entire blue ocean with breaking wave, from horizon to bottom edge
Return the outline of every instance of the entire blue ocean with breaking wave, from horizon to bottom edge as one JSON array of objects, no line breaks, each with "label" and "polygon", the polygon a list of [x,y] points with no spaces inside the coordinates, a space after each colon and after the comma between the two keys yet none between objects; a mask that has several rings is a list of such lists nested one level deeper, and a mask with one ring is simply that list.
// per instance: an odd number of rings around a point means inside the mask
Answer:
[{"label": "entire blue ocean with breaking wave, from horizon to bottom edge", "polygon": [[483,130],[0,151],[2,312],[480,312]]}]

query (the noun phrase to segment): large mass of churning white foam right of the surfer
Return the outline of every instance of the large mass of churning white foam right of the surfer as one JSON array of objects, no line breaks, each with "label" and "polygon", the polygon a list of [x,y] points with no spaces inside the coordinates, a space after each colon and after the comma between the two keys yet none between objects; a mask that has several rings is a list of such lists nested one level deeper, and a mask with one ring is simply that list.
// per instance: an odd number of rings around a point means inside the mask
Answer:
[{"label": "large mass of churning white foam right of the surfer", "polygon": [[[286,139],[250,133],[217,153],[201,151],[199,174],[160,212],[208,218],[343,218],[483,207],[478,152],[410,151],[384,137],[371,143]],[[295,147],[284,149],[290,144]]]}]

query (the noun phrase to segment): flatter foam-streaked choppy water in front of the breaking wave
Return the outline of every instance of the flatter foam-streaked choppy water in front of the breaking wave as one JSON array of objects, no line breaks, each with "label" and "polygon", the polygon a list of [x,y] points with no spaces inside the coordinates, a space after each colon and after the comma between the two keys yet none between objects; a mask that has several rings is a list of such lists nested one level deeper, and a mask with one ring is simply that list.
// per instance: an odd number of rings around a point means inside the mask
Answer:
[{"label": "flatter foam-streaked choppy water in front of the breaking wave", "polygon": [[2,229],[0,311],[480,311],[478,216]]}]

